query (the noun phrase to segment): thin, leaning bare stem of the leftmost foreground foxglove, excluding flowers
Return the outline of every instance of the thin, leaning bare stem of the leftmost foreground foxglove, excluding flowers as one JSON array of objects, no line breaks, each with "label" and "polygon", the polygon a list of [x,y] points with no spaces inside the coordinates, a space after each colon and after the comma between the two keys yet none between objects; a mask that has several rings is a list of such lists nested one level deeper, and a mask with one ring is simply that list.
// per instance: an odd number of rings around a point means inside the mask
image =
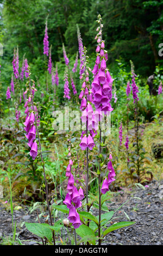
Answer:
[{"label": "thin, leaning bare stem of the leftmost foreground foxglove, excluding flowers", "polygon": [[[33,102],[32,88],[31,88],[30,74],[31,74],[31,73],[30,73],[30,68],[29,68],[29,91],[30,91],[32,106],[33,106],[33,109],[34,109],[34,102]],[[35,114],[34,114],[34,117],[35,117]],[[47,184],[46,174],[45,174],[45,162],[43,161],[42,148],[41,148],[41,142],[40,142],[40,135],[39,135],[39,130],[38,130],[38,128],[37,128],[36,117],[35,117],[35,127],[36,127],[36,131],[37,131],[37,138],[38,138],[38,141],[39,141],[40,156],[41,156],[42,167],[43,167],[43,176],[44,176],[44,180],[45,180],[46,201],[47,201],[48,213],[49,213],[49,218],[50,218],[50,221],[51,221],[51,225],[53,225],[51,210],[50,210],[49,201],[48,201],[48,184]],[[53,231],[53,243],[54,243],[54,245],[55,245],[54,231]]]}]

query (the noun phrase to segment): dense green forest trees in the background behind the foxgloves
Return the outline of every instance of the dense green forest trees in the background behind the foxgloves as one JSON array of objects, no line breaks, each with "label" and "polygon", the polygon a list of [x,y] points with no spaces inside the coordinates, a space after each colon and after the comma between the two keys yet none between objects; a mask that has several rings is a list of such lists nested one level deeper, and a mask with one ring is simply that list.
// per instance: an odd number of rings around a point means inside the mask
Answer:
[{"label": "dense green forest trees in the background behind the foxgloves", "polygon": [[[105,0],[105,1],[56,1],[27,0],[1,1],[0,43],[4,46],[5,63],[11,63],[13,49],[18,45],[20,57],[26,53],[30,63],[42,70],[43,35],[48,16],[49,44],[52,44],[52,60],[62,58],[62,43],[68,55],[76,55],[78,50],[78,23],[91,56],[95,52],[96,18],[100,13],[104,23],[106,49],[109,50],[109,63],[114,64],[120,56],[125,62],[133,60],[136,73],[147,76],[155,66],[162,63],[158,55],[162,35],[163,1]],[[75,57],[74,57],[75,58]],[[38,74],[39,75],[39,74]],[[6,78],[10,79],[9,73]]]}]

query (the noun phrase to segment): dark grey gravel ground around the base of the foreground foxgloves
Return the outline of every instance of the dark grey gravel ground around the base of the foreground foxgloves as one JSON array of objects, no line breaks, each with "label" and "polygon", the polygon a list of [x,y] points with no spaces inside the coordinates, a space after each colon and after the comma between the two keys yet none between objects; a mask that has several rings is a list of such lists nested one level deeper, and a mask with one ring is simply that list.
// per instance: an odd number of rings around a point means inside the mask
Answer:
[{"label": "dark grey gravel ground around the base of the foreground foxgloves", "polygon": [[[162,197],[163,181],[152,181],[145,189],[136,186],[131,190],[124,189],[119,195],[113,197],[109,204],[109,209],[116,210],[122,206],[114,215],[120,216],[116,219],[116,222],[134,221],[136,223],[126,228],[112,231],[105,237],[103,245],[163,245]],[[97,210],[94,210],[93,212],[96,215]],[[38,210],[38,212],[40,213],[41,211]],[[23,245],[42,244],[40,237],[30,233],[24,225],[24,222],[37,222],[36,217],[37,211],[30,212],[27,206],[22,206],[22,209],[14,211],[17,237],[22,241]],[[45,218],[42,216],[40,222],[45,223]],[[7,212],[1,204],[0,244],[4,242],[4,237],[5,241],[7,241],[7,237],[12,237],[11,223],[11,213]],[[68,230],[70,232],[70,228]],[[65,235],[69,232],[65,228]]]}]

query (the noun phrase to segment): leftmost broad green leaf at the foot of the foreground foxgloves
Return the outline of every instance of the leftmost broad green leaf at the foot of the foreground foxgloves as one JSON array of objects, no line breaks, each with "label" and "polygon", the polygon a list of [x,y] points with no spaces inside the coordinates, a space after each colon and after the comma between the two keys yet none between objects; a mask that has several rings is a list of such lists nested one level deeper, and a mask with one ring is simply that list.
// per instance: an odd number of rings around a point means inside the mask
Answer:
[{"label": "leftmost broad green leaf at the foot of the foreground foxgloves", "polygon": [[26,222],[26,228],[33,234],[39,237],[46,237],[48,241],[52,241],[52,231],[44,225],[46,223],[28,223]]}]

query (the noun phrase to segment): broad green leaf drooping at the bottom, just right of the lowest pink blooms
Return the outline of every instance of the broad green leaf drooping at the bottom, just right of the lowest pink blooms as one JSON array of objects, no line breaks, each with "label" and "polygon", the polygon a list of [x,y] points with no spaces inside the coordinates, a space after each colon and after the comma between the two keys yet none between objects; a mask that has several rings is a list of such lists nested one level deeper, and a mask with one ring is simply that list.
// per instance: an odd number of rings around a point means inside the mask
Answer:
[{"label": "broad green leaf drooping at the bottom, just right of the lowest pink blooms", "polygon": [[90,227],[82,224],[78,229],[76,229],[76,233],[82,237],[82,239],[87,237],[86,242],[88,241],[92,243],[92,245],[96,245],[96,236]]}]

